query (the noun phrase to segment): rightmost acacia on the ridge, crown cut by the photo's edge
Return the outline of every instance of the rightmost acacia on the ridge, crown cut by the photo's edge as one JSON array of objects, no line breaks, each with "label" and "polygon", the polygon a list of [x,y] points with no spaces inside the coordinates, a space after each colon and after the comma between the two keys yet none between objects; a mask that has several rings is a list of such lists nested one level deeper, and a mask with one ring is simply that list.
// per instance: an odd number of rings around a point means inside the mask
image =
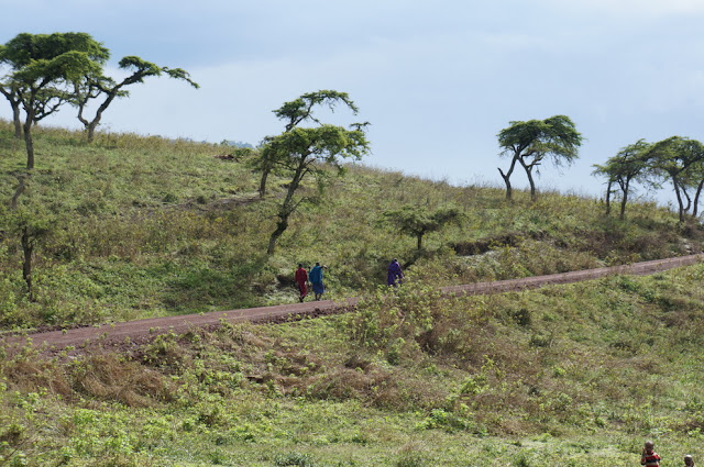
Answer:
[{"label": "rightmost acacia on the ridge, crown cut by the photo's edge", "polygon": [[671,136],[654,143],[648,152],[648,157],[652,174],[663,179],[669,178],[672,182],[680,222],[684,222],[685,214],[692,207],[692,215],[696,216],[704,187],[704,144],[696,140]]}]

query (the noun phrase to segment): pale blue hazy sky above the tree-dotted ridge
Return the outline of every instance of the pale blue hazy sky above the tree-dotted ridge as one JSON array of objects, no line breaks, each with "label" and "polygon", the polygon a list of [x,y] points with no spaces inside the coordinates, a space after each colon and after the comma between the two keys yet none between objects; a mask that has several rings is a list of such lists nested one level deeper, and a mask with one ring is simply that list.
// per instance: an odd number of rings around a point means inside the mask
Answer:
[{"label": "pale blue hazy sky above the tree-dotted ridge", "polygon": [[[102,131],[256,145],[283,131],[273,110],[333,89],[360,113],[330,122],[371,123],[365,165],[503,187],[498,132],[564,114],[584,137],[580,157],[542,167],[537,186],[590,197],[605,187],[593,165],[628,144],[704,141],[704,0],[0,0],[0,43],[87,32],[116,78],[136,55],[200,85],[132,86]],[[44,122],[79,127],[70,108]],[[518,171],[512,182],[527,186]]]}]

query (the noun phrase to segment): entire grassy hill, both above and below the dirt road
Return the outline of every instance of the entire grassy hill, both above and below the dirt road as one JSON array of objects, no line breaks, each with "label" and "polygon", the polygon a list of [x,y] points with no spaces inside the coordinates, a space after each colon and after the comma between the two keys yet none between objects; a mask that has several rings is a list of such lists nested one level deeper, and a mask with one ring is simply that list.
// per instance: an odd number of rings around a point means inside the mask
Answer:
[{"label": "entire grassy hill, both above and below the dirt road", "polygon": [[[229,325],[130,346],[0,359],[0,466],[613,466],[702,462],[704,266],[487,297],[436,287],[701,249],[702,231],[635,204],[452,187],[349,167],[264,254],[285,178],[258,200],[228,148],[36,133],[20,210],[44,220],[36,301],[24,294],[16,212],[22,142],[0,126],[3,330],[92,324],[294,301],[299,263],[330,266],[353,313]],[[311,192],[316,187],[308,188]],[[462,208],[415,238],[384,211]],[[377,288],[389,258],[407,267]]]}]

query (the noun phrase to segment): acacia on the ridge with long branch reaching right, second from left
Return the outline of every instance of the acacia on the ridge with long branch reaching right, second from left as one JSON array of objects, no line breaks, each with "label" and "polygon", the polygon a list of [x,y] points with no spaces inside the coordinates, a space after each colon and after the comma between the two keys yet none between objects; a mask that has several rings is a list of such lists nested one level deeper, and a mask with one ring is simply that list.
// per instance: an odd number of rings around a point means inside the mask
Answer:
[{"label": "acacia on the ridge with long branch reaching right, second from left", "polygon": [[[182,68],[161,67],[153,63],[143,60],[140,57],[123,57],[119,63],[120,68],[131,70],[132,74],[120,82],[99,74],[82,76],[73,82],[72,103],[78,108],[78,120],[86,129],[88,142],[92,142],[96,127],[102,119],[102,113],[108,109],[116,98],[128,97],[130,92],[124,88],[130,85],[144,82],[151,76],[166,76],[175,79],[183,79],[198,89],[197,82],[190,79],[187,71]],[[98,105],[92,119],[86,118],[86,108],[91,100],[102,97],[102,102]]]}]

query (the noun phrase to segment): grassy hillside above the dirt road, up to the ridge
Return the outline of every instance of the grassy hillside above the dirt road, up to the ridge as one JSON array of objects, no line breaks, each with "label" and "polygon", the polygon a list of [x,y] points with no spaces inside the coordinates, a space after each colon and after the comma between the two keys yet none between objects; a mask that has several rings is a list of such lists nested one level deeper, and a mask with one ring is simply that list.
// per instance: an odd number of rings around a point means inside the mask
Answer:
[{"label": "grassy hillside above the dirt road, up to the ridge", "polygon": [[[37,129],[36,169],[9,209],[23,173],[24,144],[0,126],[2,256],[0,325],[95,324],[285,303],[296,264],[329,266],[327,298],[372,291],[398,257],[409,279],[439,286],[507,279],[657,259],[702,249],[702,230],[680,225],[652,204],[619,222],[593,199],[452,187],[393,171],[350,166],[322,199],[302,205],[265,255],[284,177],[260,200],[246,157],[230,146]],[[317,188],[308,187],[310,194]],[[384,212],[453,204],[464,222],[429,233],[422,251]],[[13,216],[14,215],[14,216]],[[40,224],[35,301],[22,279],[20,225]],[[490,254],[483,254],[491,252]]]}]

